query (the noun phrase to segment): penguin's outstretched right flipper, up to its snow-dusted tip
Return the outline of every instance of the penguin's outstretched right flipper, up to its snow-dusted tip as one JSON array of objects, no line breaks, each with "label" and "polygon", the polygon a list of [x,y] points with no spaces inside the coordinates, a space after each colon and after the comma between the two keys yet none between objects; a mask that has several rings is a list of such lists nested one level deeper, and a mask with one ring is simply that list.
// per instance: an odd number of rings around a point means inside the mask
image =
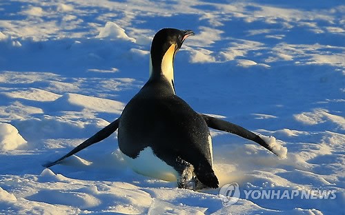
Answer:
[{"label": "penguin's outstretched right flipper, up to its snow-dusted tip", "polygon": [[221,119],[217,119],[212,116],[207,116],[205,114],[201,114],[201,116],[206,121],[206,124],[208,127],[211,127],[215,130],[221,130],[224,132],[229,132],[232,134],[236,134],[238,136],[242,136],[244,139],[248,139],[250,141],[254,141],[255,143],[259,143],[259,145],[262,145],[270,152],[273,152],[273,154],[279,156],[277,152],[273,150],[268,143],[266,143],[259,135],[254,134],[253,132],[250,132],[249,130],[246,130],[244,127],[241,127],[239,125],[235,125],[233,123],[229,123],[228,121],[224,121]]}]

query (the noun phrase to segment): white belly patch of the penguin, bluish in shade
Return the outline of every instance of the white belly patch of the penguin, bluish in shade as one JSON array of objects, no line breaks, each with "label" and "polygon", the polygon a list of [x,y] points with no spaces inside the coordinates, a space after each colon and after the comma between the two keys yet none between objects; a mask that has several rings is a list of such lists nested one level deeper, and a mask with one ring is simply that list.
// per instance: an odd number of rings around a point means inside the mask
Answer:
[{"label": "white belly patch of the penguin, bluish in shade", "polygon": [[158,158],[153,153],[151,147],[146,147],[139,153],[139,156],[134,159],[126,156],[124,153],[121,154],[126,163],[132,167],[132,170],[139,174],[150,176],[152,178],[159,178],[164,181],[177,181],[177,178],[179,177],[178,172]]}]

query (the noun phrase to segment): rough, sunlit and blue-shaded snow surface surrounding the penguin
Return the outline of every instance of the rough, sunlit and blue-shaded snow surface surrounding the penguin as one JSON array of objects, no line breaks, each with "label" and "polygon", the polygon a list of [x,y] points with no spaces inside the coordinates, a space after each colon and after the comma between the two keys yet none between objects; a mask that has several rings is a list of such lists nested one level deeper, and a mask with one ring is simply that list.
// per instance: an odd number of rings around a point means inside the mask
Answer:
[{"label": "rough, sunlit and blue-shaded snow surface surrounding the penguin", "polygon": [[[0,1],[0,214],[344,214],[344,1]],[[141,176],[116,134],[50,170],[117,119],[148,78],[160,28],[191,29],[177,94],[288,149],[212,131],[221,185],[335,190],[337,198],[253,199],[224,207]]]}]

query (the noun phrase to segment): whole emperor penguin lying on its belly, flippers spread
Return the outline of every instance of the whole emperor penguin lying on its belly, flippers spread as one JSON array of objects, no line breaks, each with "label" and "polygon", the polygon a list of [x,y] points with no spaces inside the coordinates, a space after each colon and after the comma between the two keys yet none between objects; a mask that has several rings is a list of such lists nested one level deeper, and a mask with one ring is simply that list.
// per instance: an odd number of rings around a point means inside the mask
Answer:
[{"label": "whole emperor penguin lying on its belly, flippers spread", "polygon": [[175,54],[191,35],[194,35],[191,30],[159,30],[152,39],[149,79],[128,102],[121,116],[65,156],[43,166],[56,165],[83,148],[106,139],[117,129],[119,150],[135,172],[177,181],[178,187],[190,190],[219,186],[213,170],[208,127],[255,141],[276,154],[257,134],[239,125],[199,114],[176,95]]}]

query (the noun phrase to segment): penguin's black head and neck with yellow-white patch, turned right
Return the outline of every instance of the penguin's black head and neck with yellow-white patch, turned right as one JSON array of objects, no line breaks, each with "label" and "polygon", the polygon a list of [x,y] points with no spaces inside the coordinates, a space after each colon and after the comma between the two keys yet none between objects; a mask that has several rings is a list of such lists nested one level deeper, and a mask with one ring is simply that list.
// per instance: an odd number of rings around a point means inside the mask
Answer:
[{"label": "penguin's black head and neck with yellow-white patch, turned right", "polygon": [[163,28],[155,34],[150,51],[150,79],[164,77],[173,87],[175,54],[190,35],[194,32],[175,28]]}]

